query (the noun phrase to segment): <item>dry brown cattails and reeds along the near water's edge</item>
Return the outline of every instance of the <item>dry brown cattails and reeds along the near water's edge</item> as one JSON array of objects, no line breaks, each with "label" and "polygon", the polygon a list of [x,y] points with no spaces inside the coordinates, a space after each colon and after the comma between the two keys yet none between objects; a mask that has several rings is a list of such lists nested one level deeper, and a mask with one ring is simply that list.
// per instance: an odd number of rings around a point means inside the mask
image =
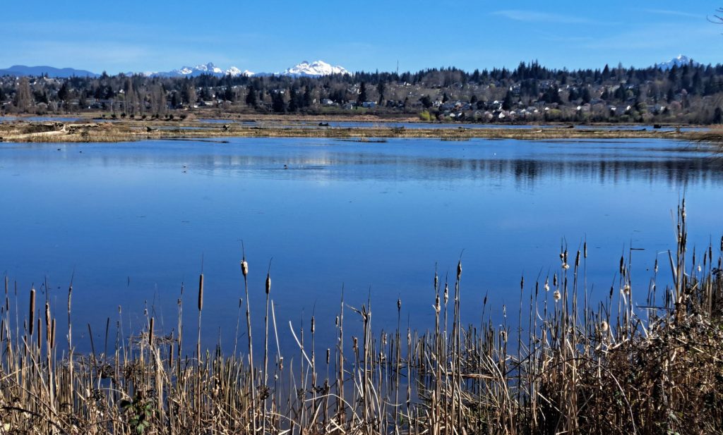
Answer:
[{"label": "dry brown cattails and reeds along the near water's edge", "polygon": [[[651,281],[633,282],[630,259],[621,258],[618,284],[602,301],[589,299],[586,245],[563,248],[557,273],[521,281],[521,294],[534,291],[520,302],[516,330],[495,326],[487,307],[478,323],[461,321],[461,261],[455,276],[442,282],[435,271],[430,280],[435,323],[427,331],[401,328],[400,300],[395,330],[375,333],[372,302],[347,307],[342,292],[330,348],[318,348],[313,317],[306,328],[291,325],[297,347],[279,348],[286,328],[275,317],[269,268],[260,366],[248,304],[243,356],[205,351],[200,339],[184,352],[182,298],[176,336],[154,330],[147,315],[140,335],[119,336],[108,349],[106,325],[104,348],[91,338],[92,352],[80,355],[73,331],[56,331],[56,313],[35,290],[27,317],[17,314],[17,289],[5,278],[0,433],[722,433],[723,240],[703,252],[686,246],[683,203],[677,249],[660,266],[673,285],[657,288],[657,263]],[[247,301],[248,273],[244,258]],[[198,290],[201,317],[202,276]],[[69,319],[71,296],[72,286]],[[641,300],[644,309],[633,302]],[[361,320],[358,335],[345,331],[349,317]],[[68,354],[56,341],[66,333]]]}]

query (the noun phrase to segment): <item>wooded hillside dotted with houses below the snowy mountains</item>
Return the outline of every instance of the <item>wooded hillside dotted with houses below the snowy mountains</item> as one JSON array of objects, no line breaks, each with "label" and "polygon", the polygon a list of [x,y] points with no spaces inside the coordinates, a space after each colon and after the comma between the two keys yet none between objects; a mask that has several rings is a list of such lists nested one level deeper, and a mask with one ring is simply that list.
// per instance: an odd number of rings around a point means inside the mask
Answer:
[{"label": "wooded hillside dotted with houses below the snowy mountains", "polygon": [[723,123],[723,65],[325,76],[0,76],[0,115],[359,115],[465,123]]}]

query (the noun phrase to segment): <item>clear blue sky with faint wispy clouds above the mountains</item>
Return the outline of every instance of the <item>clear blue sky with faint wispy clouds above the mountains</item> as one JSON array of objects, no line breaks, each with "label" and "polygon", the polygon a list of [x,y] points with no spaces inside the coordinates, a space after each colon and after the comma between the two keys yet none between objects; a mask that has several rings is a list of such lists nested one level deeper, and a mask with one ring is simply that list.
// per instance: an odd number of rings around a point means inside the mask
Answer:
[{"label": "clear blue sky with faint wispy clouds above the mountains", "polygon": [[5,1],[0,68],[255,72],[322,59],[351,71],[723,62],[708,1]]}]

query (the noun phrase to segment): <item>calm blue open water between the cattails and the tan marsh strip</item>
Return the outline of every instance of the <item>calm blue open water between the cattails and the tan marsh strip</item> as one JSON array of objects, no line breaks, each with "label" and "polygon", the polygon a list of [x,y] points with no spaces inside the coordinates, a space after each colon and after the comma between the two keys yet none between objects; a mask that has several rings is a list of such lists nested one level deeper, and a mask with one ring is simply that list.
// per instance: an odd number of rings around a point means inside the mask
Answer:
[{"label": "calm blue open water between the cattails and the tan marsh strip", "polygon": [[312,313],[317,331],[331,330],[342,286],[354,307],[372,295],[377,326],[396,324],[401,297],[403,322],[426,328],[435,263],[443,281],[462,251],[474,322],[486,294],[499,321],[503,304],[516,312],[520,276],[559,271],[563,240],[572,257],[588,241],[594,297],[630,247],[644,249],[633,280],[646,286],[657,253],[673,247],[670,211],[683,194],[690,240],[723,234],[722,160],[676,141],[230,141],[0,144],[0,271],[21,297],[47,278],[56,312],[74,272],[80,325],[114,325],[120,305],[124,328],[137,330],[148,307],[169,332],[181,283],[194,328],[203,268],[205,338],[221,328],[228,343],[244,240],[256,320],[273,258],[288,340],[288,320]]}]

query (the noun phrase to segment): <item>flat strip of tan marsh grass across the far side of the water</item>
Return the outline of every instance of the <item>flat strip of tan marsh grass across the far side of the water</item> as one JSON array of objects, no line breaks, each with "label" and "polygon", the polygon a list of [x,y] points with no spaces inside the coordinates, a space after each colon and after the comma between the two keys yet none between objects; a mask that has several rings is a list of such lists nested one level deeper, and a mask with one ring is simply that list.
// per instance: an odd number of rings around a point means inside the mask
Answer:
[{"label": "flat strip of tan marsh grass across the far side of the water", "polygon": [[[67,115],[59,118],[72,118]],[[258,118],[258,117],[257,117]],[[213,118],[202,118],[213,119]],[[217,118],[218,119],[218,118]],[[219,119],[221,120],[221,119]],[[328,118],[330,120],[330,118]],[[586,126],[574,128],[570,125],[474,127],[463,125],[440,128],[404,128],[386,122],[388,126],[335,127],[307,126],[294,123],[291,119],[276,123],[275,118],[265,118],[269,124],[249,126],[229,120],[203,122],[202,120],[86,120],[77,121],[26,121],[22,118],[0,123],[0,141],[3,142],[124,142],[158,139],[209,139],[235,137],[279,137],[279,138],[329,138],[369,141],[369,139],[440,139],[467,141],[469,139],[677,139],[688,141],[711,141],[718,133],[710,131],[678,131],[667,129],[613,130],[613,125]],[[254,119],[258,122],[258,119]],[[298,121],[297,121],[298,122]],[[346,120],[346,122],[368,123],[369,120]],[[380,124],[382,123],[380,122]],[[409,121],[403,121],[409,122]],[[427,123],[421,123],[426,125]],[[537,128],[536,128],[537,127]],[[599,128],[596,128],[599,127]]]}]

